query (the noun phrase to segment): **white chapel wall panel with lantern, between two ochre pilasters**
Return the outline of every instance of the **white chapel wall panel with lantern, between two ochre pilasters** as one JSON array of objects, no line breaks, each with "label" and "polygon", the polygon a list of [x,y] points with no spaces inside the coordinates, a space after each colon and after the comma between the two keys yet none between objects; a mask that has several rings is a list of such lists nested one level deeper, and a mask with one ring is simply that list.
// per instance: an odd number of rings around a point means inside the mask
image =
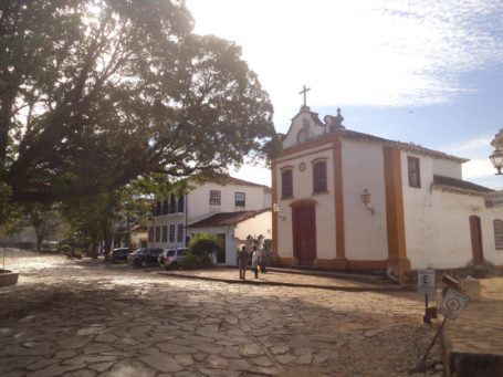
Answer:
[{"label": "white chapel wall panel with lantern, between two ochre pilasters", "polygon": [[[346,258],[386,260],[388,235],[383,147],[343,140],[342,148]],[[365,189],[370,192],[375,214],[361,202]]]}]

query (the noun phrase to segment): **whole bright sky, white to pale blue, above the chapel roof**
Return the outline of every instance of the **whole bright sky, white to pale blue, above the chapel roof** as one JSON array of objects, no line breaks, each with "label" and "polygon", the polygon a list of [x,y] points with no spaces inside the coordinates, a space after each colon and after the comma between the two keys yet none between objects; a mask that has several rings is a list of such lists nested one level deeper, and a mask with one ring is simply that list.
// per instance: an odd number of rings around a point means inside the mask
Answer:
[{"label": "whole bright sky, white to pale blue, above the chapel roof", "polygon": [[[503,188],[488,156],[503,128],[503,0],[187,0],[198,34],[242,48],[286,133],[303,103],[348,129],[469,158],[463,179]],[[270,171],[242,179],[271,185]]]}]

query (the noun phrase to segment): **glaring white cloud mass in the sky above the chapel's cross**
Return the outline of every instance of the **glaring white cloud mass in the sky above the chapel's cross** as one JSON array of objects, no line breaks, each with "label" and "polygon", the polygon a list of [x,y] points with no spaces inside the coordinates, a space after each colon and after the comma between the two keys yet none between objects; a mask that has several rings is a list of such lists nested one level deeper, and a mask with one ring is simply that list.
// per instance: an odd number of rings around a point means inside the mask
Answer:
[{"label": "glaring white cloud mass in the sky above the chapel's cross", "polygon": [[[276,123],[302,104],[447,103],[461,75],[503,62],[503,2],[189,0],[196,31],[243,46]],[[293,111],[292,107],[295,104]]]}]

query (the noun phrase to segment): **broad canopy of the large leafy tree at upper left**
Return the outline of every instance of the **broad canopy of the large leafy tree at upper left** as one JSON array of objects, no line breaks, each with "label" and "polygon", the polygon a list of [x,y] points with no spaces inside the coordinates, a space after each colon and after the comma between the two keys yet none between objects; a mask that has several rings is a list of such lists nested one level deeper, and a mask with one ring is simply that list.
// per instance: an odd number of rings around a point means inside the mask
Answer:
[{"label": "broad canopy of the large leafy tree at upper left", "polygon": [[109,192],[150,172],[224,171],[275,149],[271,103],[240,48],[196,35],[184,1],[0,7],[9,203]]}]

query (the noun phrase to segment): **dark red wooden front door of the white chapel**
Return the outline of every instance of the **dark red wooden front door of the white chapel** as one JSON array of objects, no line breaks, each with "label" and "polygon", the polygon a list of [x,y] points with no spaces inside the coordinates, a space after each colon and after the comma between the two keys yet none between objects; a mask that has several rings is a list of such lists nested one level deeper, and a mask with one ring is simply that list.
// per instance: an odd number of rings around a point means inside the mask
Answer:
[{"label": "dark red wooden front door of the white chapel", "polygon": [[300,265],[313,265],[316,258],[316,216],[314,206],[293,207],[293,247]]}]

